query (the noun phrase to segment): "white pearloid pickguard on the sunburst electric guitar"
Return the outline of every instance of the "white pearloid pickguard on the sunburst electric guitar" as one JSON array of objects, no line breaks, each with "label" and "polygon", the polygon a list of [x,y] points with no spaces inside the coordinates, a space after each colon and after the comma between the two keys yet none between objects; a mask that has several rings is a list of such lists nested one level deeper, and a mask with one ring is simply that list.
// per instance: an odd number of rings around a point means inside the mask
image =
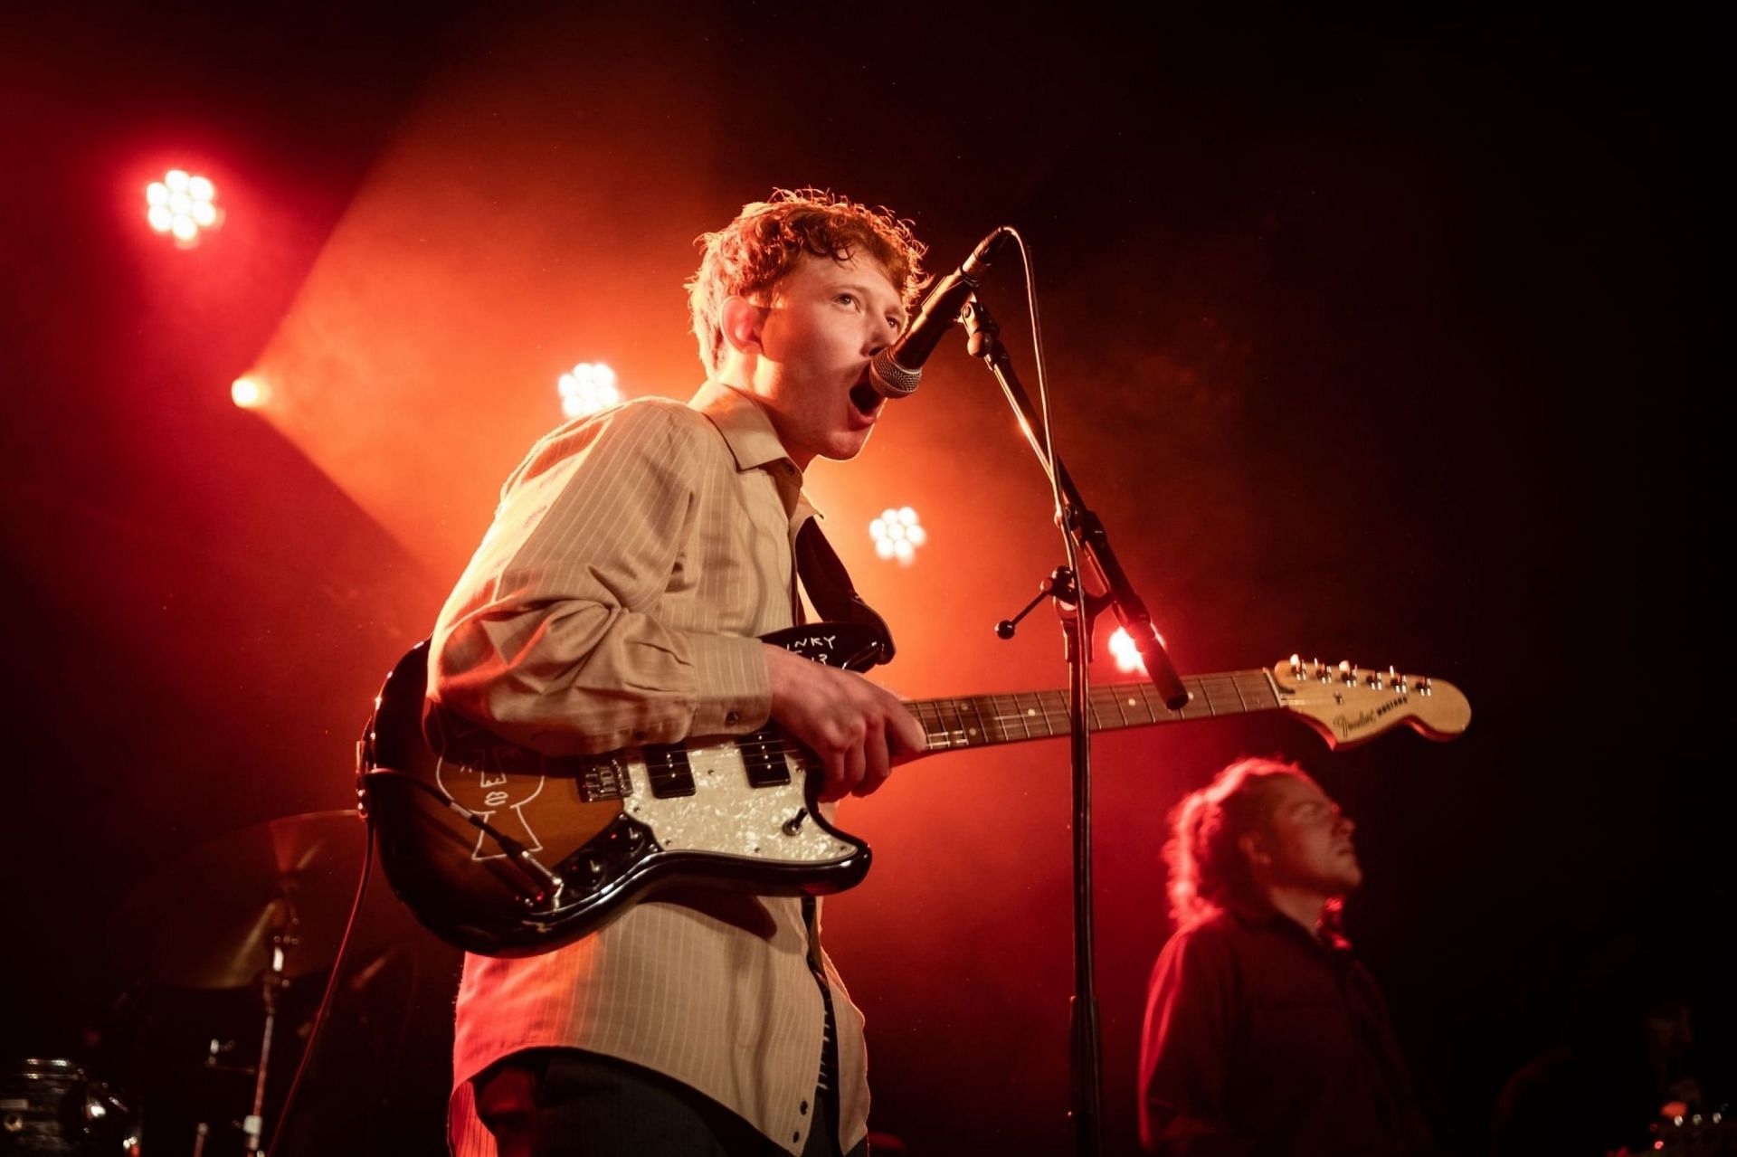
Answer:
[{"label": "white pearloid pickguard on the sunburst electric guitar", "polygon": [[632,778],[632,792],[622,801],[622,810],[650,827],[665,851],[709,851],[787,863],[829,863],[855,851],[853,844],[820,827],[813,815],[804,815],[794,832],[785,832],[785,823],[808,808],[802,768],[789,756],[789,783],[754,787],[735,742],[690,745],[693,794],[658,799],[651,794],[639,749],[620,754]]}]

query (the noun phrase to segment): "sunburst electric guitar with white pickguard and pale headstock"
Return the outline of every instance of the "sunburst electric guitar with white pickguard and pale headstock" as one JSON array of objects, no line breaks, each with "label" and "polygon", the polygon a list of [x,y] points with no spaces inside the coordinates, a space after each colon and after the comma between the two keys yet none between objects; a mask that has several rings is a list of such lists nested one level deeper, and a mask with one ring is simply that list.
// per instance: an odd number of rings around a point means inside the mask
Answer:
[{"label": "sunburst electric guitar with white pickguard and pale headstock", "polygon": [[[813,624],[766,636],[865,669],[877,638]],[[1304,664],[1185,678],[1169,711],[1150,683],[1094,686],[1091,726],[1117,730],[1287,711],[1329,747],[1407,724],[1454,738],[1471,705],[1424,676]],[[545,756],[426,704],[427,643],[387,676],[358,750],[358,794],[393,891],[434,935],[485,955],[533,955],[667,886],[823,895],[858,884],[868,844],[818,810],[815,756],[776,726],[599,756]],[[928,752],[1067,735],[1067,691],[908,702]]]}]

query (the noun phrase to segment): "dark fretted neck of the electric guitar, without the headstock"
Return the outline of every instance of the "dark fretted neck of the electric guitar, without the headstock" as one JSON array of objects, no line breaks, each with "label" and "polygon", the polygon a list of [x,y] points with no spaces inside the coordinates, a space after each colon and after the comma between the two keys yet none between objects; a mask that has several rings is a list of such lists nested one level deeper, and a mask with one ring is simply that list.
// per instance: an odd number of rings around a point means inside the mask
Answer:
[{"label": "dark fretted neck of the electric guitar, without the headstock", "polygon": [[[1242,716],[1277,711],[1278,688],[1266,671],[1226,671],[1186,676],[1188,702],[1171,711],[1150,683],[1115,683],[1091,690],[1091,730],[1115,731],[1155,723]],[[1018,691],[1013,695],[969,695],[922,698],[905,704],[928,735],[928,749],[959,750],[992,744],[1021,744],[1072,731],[1068,693]]]}]

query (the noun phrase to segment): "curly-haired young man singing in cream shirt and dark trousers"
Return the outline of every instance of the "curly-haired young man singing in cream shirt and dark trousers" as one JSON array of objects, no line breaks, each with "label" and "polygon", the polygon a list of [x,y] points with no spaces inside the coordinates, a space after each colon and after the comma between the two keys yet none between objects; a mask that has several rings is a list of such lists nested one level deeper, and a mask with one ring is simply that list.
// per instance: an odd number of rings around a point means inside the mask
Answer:
[{"label": "curly-haired young man singing in cream shirt and dark trousers", "polygon": [[[895,695],[756,636],[792,625],[802,471],[851,459],[868,358],[922,285],[910,226],[813,189],[743,207],[691,290],[709,380],[544,438],[434,631],[429,695],[552,754],[776,721],[868,794],[924,735]],[[860,1154],[862,1016],[813,902],[658,893],[565,949],[466,959],[452,1145]],[[481,1127],[481,1126],[486,1126]]]}]

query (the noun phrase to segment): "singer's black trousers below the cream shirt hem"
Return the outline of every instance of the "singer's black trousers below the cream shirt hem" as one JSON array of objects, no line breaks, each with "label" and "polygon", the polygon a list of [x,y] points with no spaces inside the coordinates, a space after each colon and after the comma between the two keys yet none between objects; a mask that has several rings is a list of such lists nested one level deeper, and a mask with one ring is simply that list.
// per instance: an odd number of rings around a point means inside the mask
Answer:
[{"label": "singer's black trousers below the cream shirt hem", "polygon": [[[773,1157],[785,1150],[664,1074],[580,1049],[526,1049],[472,1082],[500,1157]],[[802,1157],[839,1157],[837,1122],[815,1096]],[[848,1157],[867,1157],[868,1143]]]}]

